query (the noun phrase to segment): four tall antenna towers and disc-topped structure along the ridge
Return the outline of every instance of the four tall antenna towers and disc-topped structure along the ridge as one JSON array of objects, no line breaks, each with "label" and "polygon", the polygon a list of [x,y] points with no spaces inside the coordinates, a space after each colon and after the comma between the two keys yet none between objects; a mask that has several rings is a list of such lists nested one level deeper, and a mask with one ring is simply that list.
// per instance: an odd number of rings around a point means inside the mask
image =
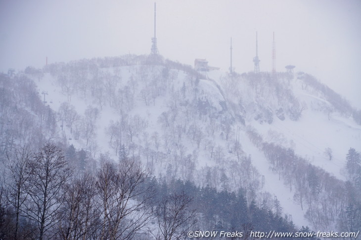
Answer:
[{"label": "four tall antenna towers and disc-topped structure along the ridge", "polygon": [[[158,47],[157,47],[157,37],[156,37],[156,3],[154,2],[154,37],[152,37],[152,47],[151,47],[151,54],[157,55],[158,54]],[[233,67],[232,67],[232,38],[230,38],[230,67],[229,72],[233,73]],[[258,36],[256,32],[256,56],[253,58],[253,63],[255,65],[254,72],[259,73],[260,72],[260,62],[261,60],[258,57]],[[288,67],[288,66],[287,66]],[[286,68],[287,68],[286,67]],[[290,66],[293,67],[294,66]],[[273,32],[273,41],[272,41],[272,73],[276,72],[276,46],[274,41],[274,32]]]}]

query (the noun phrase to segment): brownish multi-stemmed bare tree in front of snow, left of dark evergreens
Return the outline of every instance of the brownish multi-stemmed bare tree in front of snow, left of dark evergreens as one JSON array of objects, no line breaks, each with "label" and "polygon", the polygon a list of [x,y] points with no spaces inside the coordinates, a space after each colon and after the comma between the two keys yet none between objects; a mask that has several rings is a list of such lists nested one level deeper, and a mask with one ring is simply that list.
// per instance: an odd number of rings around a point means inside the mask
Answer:
[{"label": "brownish multi-stemmed bare tree in front of snow, left of dark evergreens", "polygon": [[130,240],[151,219],[147,209],[154,196],[146,184],[148,173],[133,159],[118,165],[104,162],[97,174],[97,189],[103,215],[100,239]]}]

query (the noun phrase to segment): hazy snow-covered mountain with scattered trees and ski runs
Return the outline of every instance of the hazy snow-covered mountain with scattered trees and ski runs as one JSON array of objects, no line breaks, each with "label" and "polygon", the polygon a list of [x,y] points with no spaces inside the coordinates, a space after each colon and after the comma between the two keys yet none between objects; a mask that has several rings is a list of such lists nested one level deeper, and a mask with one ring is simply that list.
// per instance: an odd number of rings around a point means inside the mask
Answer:
[{"label": "hazy snow-covered mountain with scattered trees and ski runs", "polygon": [[279,201],[298,226],[347,229],[346,155],[360,150],[361,114],[312,75],[197,72],[133,55],[24,74],[55,112],[47,138],[64,147],[96,160],[124,145],[155,176],[242,188],[247,203],[277,212]]}]

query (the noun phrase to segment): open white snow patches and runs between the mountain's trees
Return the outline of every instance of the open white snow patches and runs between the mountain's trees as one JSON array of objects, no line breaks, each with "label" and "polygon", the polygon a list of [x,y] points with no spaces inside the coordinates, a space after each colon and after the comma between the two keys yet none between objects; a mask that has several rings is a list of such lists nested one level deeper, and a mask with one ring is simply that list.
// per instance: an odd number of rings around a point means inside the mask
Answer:
[{"label": "open white snow patches and runs between the mountain's trees", "polygon": [[[154,67],[151,72],[156,75],[161,69],[161,67]],[[113,72],[115,69],[110,68],[105,70]],[[117,70],[121,73],[121,82],[117,86],[117,88],[119,88],[132,76],[138,76],[137,71],[139,71],[139,66],[119,67]],[[190,80],[187,78],[186,73],[175,69],[171,69],[170,71],[170,74],[175,76],[173,80],[174,89],[180,89],[183,82],[185,82],[187,87],[190,85]],[[223,95],[226,95],[226,87],[223,82],[223,76],[226,75],[227,73],[225,72],[212,71],[208,73],[208,77],[214,81],[207,79],[199,80],[198,98],[200,100],[208,100],[215,108],[215,111],[218,112],[223,109],[220,102],[226,101],[226,96]],[[68,101],[66,94],[63,94],[61,88],[56,84],[56,79],[49,73],[45,73],[44,77],[39,81],[38,79],[34,81],[38,84],[40,93],[43,91],[48,93],[48,95],[45,96],[45,99],[47,104],[49,104],[53,110],[57,111],[61,103]],[[216,83],[221,87],[223,93],[220,92]],[[138,85],[141,84],[144,83],[138,81]],[[244,86],[244,84],[240,84],[240,86]],[[301,88],[300,80],[293,79],[291,88],[293,88],[296,98],[307,104],[307,108],[303,111],[302,117],[298,121],[292,121],[286,116],[284,121],[274,117],[271,124],[265,122],[261,124],[253,118],[246,116],[246,126],[251,125],[254,127],[257,132],[264,137],[264,140],[275,142],[285,147],[292,147],[296,154],[308,159],[313,165],[319,166],[337,178],[345,180],[345,176],[342,174],[342,169],[345,166],[345,156],[350,147],[360,150],[361,126],[357,125],[351,117],[342,116],[336,111],[329,115],[322,112],[317,106],[322,106],[324,104],[329,105],[330,103],[320,96],[310,93],[308,90],[303,90]],[[249,96],[255,95],[255,93],[251,92],[249,89],[241,89],[241,91],[248,92],[247,94]],[[149,136],[154,132],[158,132],[160,136],[165,133],[165,130],[162,128],[158,119],[162,112],[169,109],[169,100],[171,99],[172,94],[175,93],[167,92],[165,95],[157,97],[155,105],[150,103],[148,106],[141,101],[138,95],[135,96],[135,108],[131,110],[129,114],[138,114],[146,119],[148,126],[144,132]],[[244,105],[250,106],[251,104],[254,104],[252,101],[254,101],[254,99],[253,97],[250,97],[249,103],[244,103]],[[75,93],[72,94],[70,103],[75,106],[80,115],[84,114],[88,105],[99,108],[99,106],[93,103],[91,99],[84,99],[80,93],[78,95]],[[97,120],[96,143],[98,145],[98,151],[95,154],[96,156],[100,153],[109,152],[113,159],[117,159],[114,149],[109,146],[109,137],[107,136],[105,129],[111,120],[116,121],[119,117],[119,114],[114,108],[111,108],[108,105],[103,106],[100,118]],[[199,124],[199,122],[200,121],[198,121],[197,124]],[[58,122],[59,126],[60,124],[61,122]],[[236,126],[242,126],[242,124],[237,122],[237,120],[233,123],[231,135],[233,138]],[[207,129],[202,129],[202,131],[205,132]],[[64,128],[63,132],[68,138],[68,144],[74,144],[76,148],[86,148],[84,140],[70,140],[70,131]],[[62,133],[59,132],[59,136],[61,136],[61,134]],[[137,136],[136,141],[142,142],[141,134]],[[228,142],[224,137],[214,136],[213,141],[216,146],[223,146],[227,149]],[[209,151],[204,150],[202,146],[198,149],[196,144],[186,137],[183,137],[181,142],[185,146],[187,153],[192,153],[193,151],[198,152],[198,161],[195,165],[198,170],[206,166],[217,166],[217,164],[210,159]],[[265,186],[262,191],[268,191],[271,195],[277,196],[283,207],[283,213],[291,214],[292,219],[297,226],[310,225],[304,218],[304,212],[301,207],[293,201],[293,192],[290,191],[288,186],[283,184],[282,178],[279,180],[278,175],[270,170],[270,165],[267,162],[265,155],[250,142],[248,137],[246,137],[244,127],[241,127],[240,142],[242,150],[247,155],[252,155],[252,164],[257,168],[260,175],[265,176]],[[331,161],[328,160],[324,154],[325,148],[327,147],[332,149],[333,158]],[[226,151],[225,153],[226,156],[229,156]],[[166,166],[162,166],[162,168],[158,167],[154,174],[164,174],[165,168]]]}]

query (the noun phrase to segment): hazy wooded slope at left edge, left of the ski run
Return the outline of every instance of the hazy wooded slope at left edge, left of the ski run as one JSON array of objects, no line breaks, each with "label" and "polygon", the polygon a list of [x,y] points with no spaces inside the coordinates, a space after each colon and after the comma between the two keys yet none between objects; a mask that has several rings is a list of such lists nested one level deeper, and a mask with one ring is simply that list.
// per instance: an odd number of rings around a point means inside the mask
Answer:
[{"label": "hazy wooded slope at left edge, left of the ski run", "polygon": [[55,112],[39,98],[37,85],[23,74],[0,74],[0,158],[17,146],[37,148],[56,135]]}]

